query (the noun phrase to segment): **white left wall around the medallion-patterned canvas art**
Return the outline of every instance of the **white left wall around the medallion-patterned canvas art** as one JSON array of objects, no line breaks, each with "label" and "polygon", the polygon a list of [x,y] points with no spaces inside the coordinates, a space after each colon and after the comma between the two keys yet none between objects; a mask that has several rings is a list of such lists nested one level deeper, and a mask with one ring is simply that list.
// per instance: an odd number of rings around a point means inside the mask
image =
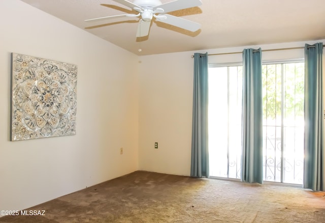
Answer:
[{"label": "white left wall around the medallion-patterned canvas art", "polygon": [[[18,0],[0,30],[0,210],[137,171],[138,56]],[[76,135],[10,142],[11,52],[78,66]]]}]

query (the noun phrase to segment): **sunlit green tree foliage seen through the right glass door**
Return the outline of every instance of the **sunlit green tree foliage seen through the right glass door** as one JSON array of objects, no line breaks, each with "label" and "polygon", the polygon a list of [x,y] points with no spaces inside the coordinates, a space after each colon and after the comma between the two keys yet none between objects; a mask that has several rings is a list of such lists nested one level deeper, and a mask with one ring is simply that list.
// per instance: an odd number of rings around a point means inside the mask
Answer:
[{"label": "sunlit green tree foliage seen through the right glass door", "polygon": [[304,63],[271,64],[262,67],[264,119],[302,117],[304,114]]}]

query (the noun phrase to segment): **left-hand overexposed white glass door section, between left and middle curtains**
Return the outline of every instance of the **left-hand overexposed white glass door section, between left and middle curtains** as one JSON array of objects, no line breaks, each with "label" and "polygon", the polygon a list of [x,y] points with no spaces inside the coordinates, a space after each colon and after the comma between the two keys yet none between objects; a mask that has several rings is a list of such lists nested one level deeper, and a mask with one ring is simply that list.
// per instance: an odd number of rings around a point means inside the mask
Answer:
[{"label": "left-hand overexposed white glass door section, between left and middle curtains", "polygon": [[242,66],[209,68],[210,175],[240,179]]}]

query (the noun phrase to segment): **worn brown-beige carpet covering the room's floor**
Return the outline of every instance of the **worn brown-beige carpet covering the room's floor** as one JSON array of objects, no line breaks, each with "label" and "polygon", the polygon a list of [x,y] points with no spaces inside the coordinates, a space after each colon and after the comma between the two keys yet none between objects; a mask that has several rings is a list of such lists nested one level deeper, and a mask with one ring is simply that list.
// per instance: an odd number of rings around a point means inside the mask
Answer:
[{"label": "worn brown-beige carpet covering the room's floor", "polygon": [[[325,192],[137,171],[0,222],[325,222]],[[27,210],[27,212],[28,212]]]}]

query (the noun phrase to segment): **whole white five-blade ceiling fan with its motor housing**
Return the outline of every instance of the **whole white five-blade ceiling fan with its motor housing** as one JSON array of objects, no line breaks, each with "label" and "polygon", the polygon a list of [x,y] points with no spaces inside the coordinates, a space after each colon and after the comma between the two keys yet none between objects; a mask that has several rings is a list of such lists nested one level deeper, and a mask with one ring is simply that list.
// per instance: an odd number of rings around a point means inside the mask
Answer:
[{"label": "whole white five-blade ceiling fan with its motor housing", "polygon": [[106,16],[101,18],[87,19],[85,21],[99,21],[120,17],[140,17],[137,37],[144,37],[149,35],[151,20],[155,18],[159,22],[164,22],[170,25],[180,27],[184,30],[195,32],[200,29],[201,24],[187,19],[179,18],[177,16],[166,14],[176,10],[187,9],[202,5],[201,0],[176,0],[161,4],[159,0],[134,0],[133,3],[126,0],[113,0],[119,4],[127,6],[138,14],[122,14]]}]

